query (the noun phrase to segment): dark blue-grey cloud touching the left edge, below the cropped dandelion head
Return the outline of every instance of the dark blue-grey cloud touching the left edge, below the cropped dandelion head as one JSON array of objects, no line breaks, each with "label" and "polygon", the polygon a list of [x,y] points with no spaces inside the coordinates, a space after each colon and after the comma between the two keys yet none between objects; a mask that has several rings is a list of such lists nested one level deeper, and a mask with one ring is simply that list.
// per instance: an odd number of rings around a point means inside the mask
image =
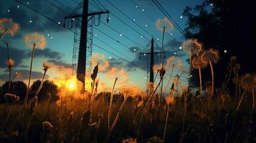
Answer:
[{"label": "dark blue-grey cloud touching the left edge, below the cropped dandelion head", "polygon": [[[6,60],[7,60],[7,50],[6,47],[0,45],[0,68],[6,67]],[[14,59],[15,64],[14,66],[19,66],[22,63],[23,59],[27,58],[26,51],[22,49],[17,49],[13,46],[9,47],[9,56],[11,59]]]}]

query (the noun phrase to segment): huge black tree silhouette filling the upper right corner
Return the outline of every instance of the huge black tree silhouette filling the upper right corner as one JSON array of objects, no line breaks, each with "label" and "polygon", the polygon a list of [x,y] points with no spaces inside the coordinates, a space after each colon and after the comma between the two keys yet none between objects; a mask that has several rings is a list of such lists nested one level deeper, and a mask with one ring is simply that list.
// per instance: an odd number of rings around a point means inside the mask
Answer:
[{"label": "huge black tree silhouette filling the upper right corner", "polygon": [[[207,0],[194,8],[186,6],[185,35],[187,39],[202,41],[204,49],[219,50],[219,62],[215,65],[216,84],[220,85],[227,74],[231,56],[237,56],[241,73],[256,69],[255,66],[255,5],[253,1]],[[255,12],[253,12],[255,11]],[[227,52],[225,52],[227,50]],[[209,67],[202,70],[203,83],[210,81]],[[198,87],[199,75],[192,70],[191,83]]]}]

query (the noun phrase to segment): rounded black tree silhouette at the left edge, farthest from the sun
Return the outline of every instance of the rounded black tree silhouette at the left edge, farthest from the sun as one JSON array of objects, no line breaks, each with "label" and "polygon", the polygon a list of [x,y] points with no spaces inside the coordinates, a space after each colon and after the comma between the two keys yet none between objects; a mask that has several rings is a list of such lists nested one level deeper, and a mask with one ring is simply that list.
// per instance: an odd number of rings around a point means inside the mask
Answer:
[{"label": "rounded black tree silhouette at the left edge, farthest from the sun", "polygon": [[[0,101],[4,102],[4,94],[8,91],[8,86],[9,82],[5,82],[1,87],[0,87]],[[19,96],[20,99],[25,98],[25,94],[27,91],[27,85],[22,82],[22,81],[16,81],[16,82],[11,82],[10,86],[10,94],[15,94],[16,96]]]}]

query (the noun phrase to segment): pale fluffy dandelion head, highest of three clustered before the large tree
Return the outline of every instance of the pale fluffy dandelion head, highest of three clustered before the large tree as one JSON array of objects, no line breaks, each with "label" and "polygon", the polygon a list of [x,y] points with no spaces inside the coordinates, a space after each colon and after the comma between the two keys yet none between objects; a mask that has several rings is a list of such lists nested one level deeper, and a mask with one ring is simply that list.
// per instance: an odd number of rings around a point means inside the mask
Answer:
[{"label": "pale fluffy dandelion head, highest of three clustered before the large tree", "polygon": [[199,54],[202,50],[202,43],[197,39],[188,39],[183,42],[182,49],[190,55]]}]

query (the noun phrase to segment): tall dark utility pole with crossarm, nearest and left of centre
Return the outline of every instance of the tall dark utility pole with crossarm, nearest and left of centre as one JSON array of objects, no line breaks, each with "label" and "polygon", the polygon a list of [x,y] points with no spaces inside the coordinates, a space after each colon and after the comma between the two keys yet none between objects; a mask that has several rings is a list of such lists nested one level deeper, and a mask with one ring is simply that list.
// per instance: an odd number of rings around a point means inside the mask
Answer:
[{"label": "tall dark utility pole with crossarm, nearest and left of centre", "polygon": [[[92,18],[96,15],[100,14],[109,14],[109,11],[97,11],[97,12],[91,12],[88,13],[89,10],[89,0],[84,0],[83,3],[81,2],[78,8],[82,8],[82,14],[71,14],[69,16],[65,16],[65,19],[76,19],[77,21],[81,21],[82,18],[82,26],[80,28],[80,44],[79,44],[79,51],[77,49],[74,49],[73,51],[73,61],[75,58],[75,61],[77,60],[77,66],[75,66],[77,70],[77,79],[82,82],[82,89],[81,92],[85,91],[85,71],[86,71],[86,61],[87,61],[87,27],[88,27],[88,21],[92,21],[92,24],[89,24],[93,28],[93,20]],[[107,21],[109,18],[107,19]],[[76,24],[79,26],[79,24]],[[92,31],[90,31],[92,32]],[[77,36],[77,34],[75,34]],[[76,39],[75,39],[76,40]],[[92,42],[90,43],[90,46],[92,46]],[[75,46],[74,46],[75,48]],[[78,57],[77,57],[77,51],[78,51]],[[92,54],[92,49],[90,48],[90,55]]]}]

